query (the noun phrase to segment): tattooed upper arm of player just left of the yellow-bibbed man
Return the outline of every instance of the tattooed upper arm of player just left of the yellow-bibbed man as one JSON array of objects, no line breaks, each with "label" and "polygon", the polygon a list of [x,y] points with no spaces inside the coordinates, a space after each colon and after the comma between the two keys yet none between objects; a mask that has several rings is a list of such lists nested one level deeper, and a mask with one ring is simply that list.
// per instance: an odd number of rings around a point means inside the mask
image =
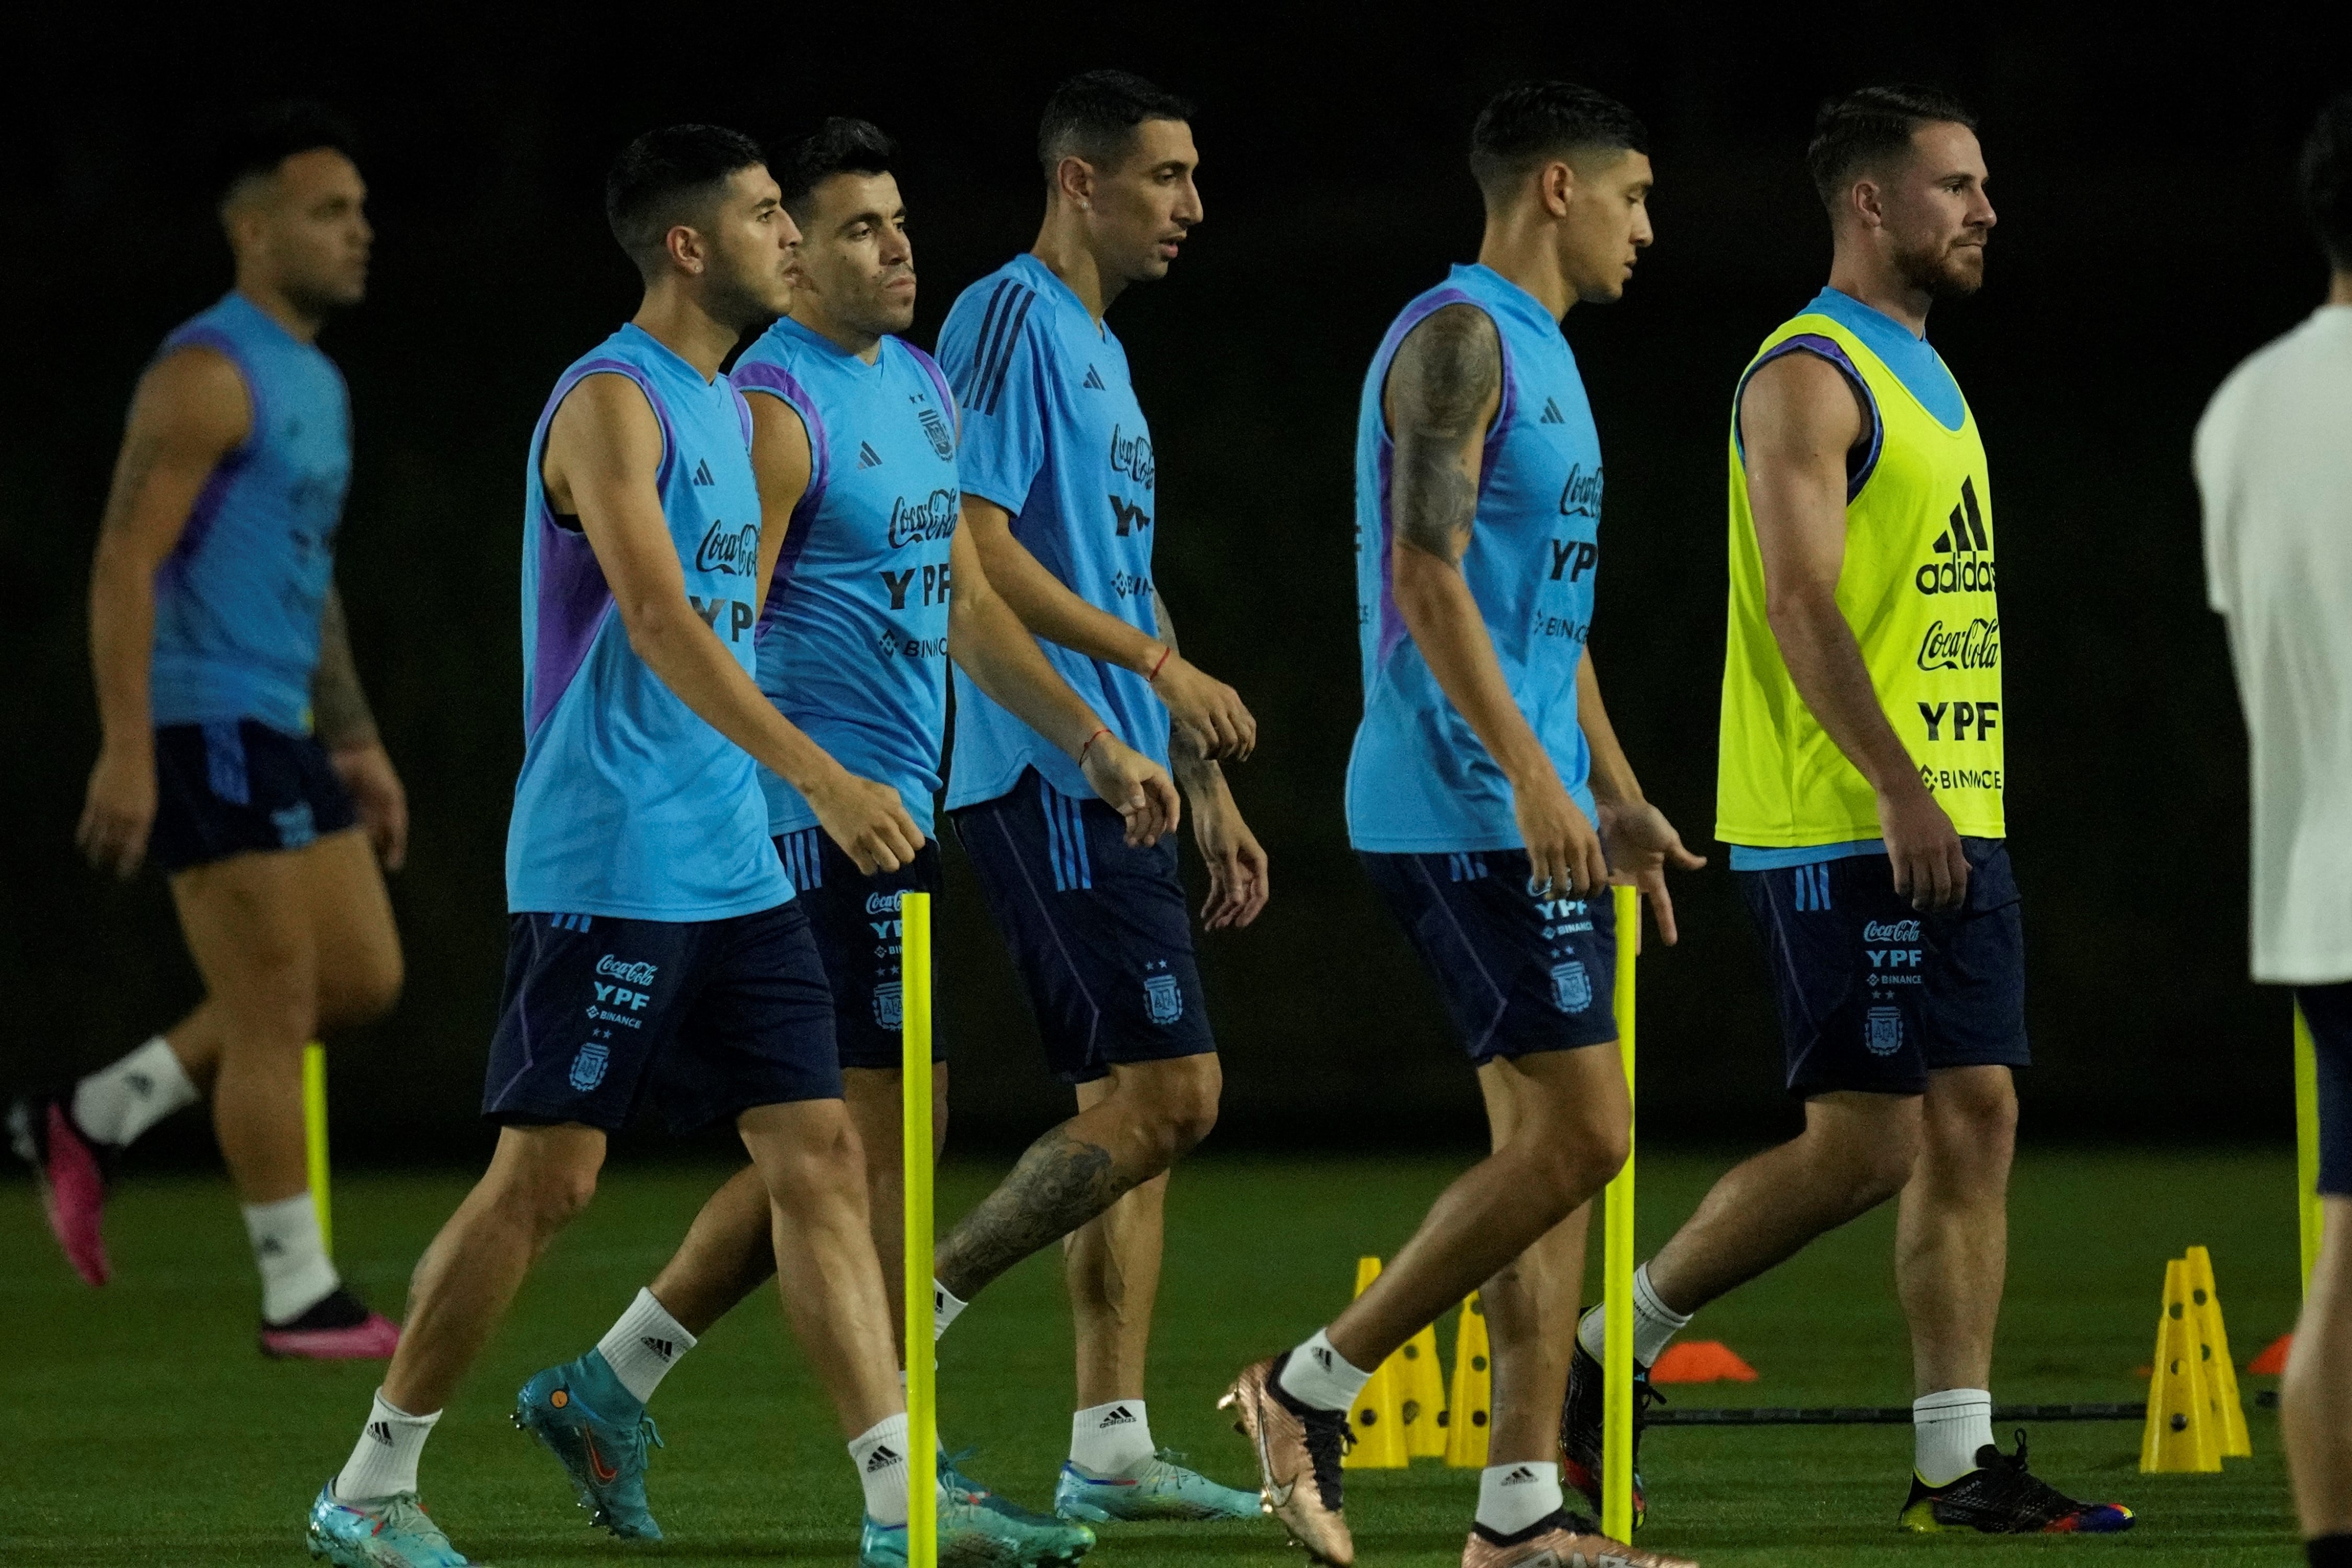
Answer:
[{"label": "tattooed upper arm of player just left of the yellow-bibbed man", "polygon": [[1397,536],[1437,559],[1461,559],[1477,517],[1463,442],[1503,383],[1503,343],[1472,306],[1444,306],[1406,334],[1388,369],[1395,400]]}]

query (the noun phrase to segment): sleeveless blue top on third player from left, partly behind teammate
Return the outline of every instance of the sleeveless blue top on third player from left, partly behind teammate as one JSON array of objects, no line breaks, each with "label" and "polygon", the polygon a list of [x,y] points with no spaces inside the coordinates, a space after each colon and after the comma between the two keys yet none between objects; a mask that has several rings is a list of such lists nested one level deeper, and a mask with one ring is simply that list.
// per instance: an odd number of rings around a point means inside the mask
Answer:
[{"label": "sleeveless blue top on third player from left, partly behind teammate", "polygon": [[[783,317],[736,360],[734,386],[783,400],[809,430],[809,491],[760,616],[760,691],[844,769],[898,790],[931,832],[962,508],[948,383],[910,343],[882,339],[868,364]],[[760,788],[769,835],[816,825],[800,790],[767,769]]]}]

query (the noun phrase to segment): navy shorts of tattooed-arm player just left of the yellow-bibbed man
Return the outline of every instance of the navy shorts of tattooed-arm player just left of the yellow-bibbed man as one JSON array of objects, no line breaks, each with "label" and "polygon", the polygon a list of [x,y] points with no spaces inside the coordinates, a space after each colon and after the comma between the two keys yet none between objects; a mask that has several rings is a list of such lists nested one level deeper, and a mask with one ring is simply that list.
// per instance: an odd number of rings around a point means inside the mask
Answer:
[{"label": "navy shorts of tattooed-arm player just left of the yellow-bibbed man", "polygon": [[1475,1065],[1616,1039],[1616,903],[1536,898],[1524,849],[1359,851]]}]

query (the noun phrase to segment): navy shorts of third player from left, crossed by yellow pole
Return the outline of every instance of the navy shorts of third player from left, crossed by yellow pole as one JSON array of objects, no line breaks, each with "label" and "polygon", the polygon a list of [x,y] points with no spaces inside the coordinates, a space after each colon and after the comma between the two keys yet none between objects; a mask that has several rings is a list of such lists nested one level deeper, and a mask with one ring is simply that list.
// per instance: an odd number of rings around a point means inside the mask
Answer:
[{"label": "navy shorts of third player from left, crossed by yellow pole", "polygon": [[[823,827],[776,839],[776,858],[800,889],[816,954],[833,985],[833,1044],[842,1067],[896,1070],[906,1060],[898,1004],[898,893],[929,893],[938,919],[938,839],[924,839],[913,865],[868,877]],[[931,994],[938,994],[938,943],[931,943]],[[938,1018],[931,1018],[931,1060],[948,1060]]]}]

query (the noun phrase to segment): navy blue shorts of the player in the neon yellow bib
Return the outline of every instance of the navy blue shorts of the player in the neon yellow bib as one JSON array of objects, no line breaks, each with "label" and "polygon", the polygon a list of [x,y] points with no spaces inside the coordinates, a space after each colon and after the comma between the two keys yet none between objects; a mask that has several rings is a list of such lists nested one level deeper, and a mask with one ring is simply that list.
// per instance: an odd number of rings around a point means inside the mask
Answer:
[{"label": "navy blue shorts of the player in the neon yellow bib", "polygon": [[1926,1093],[1938,1067],[2027,1067],[2025,919],[1999,839],[1962,839],[1969,898],[1922,914],[1886,856],[1738,872],[1764,936],[1788,1091]]}]

